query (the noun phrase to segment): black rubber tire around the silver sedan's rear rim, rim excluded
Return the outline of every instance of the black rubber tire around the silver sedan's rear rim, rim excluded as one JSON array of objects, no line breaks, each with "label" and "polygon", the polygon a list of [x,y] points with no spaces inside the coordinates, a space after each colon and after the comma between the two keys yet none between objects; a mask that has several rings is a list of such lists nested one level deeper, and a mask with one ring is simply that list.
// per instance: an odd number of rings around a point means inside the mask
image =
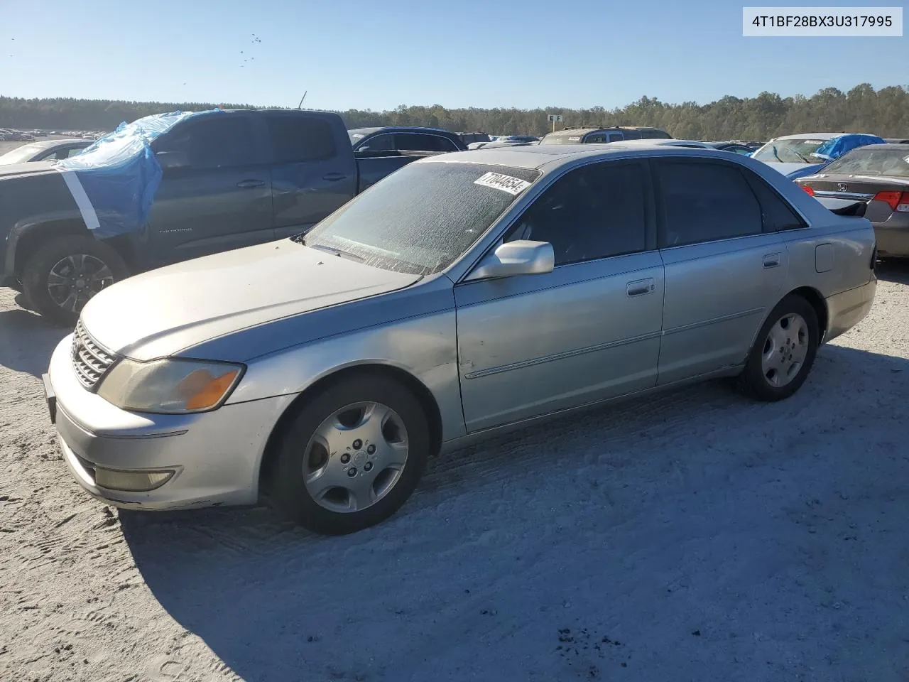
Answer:
[{"label": "black rubber tire around the silver sedan's rear rim, rim excluded", "polygon": [[[807,348],[801,366],[783,386],[774,386],[770,375],[764,372],[764,354],[773,348],[774,341],[770,338],[771,330],[786,316],[797,315],[804,320],[807,329]],[[782,327],[781,327],[782,328]],[[764,326],[758,332],[754,347],[748,355],[744,371],[738,377],[738,387],[747,396],[774,402],[792,396],[803,384],[814,365],[814,356],[820,342],[820,331],[817,322],[817,313],[802,296],[786,296],[773,311],[767,316]],[[795,343],[798,343],[796,340]]]}]

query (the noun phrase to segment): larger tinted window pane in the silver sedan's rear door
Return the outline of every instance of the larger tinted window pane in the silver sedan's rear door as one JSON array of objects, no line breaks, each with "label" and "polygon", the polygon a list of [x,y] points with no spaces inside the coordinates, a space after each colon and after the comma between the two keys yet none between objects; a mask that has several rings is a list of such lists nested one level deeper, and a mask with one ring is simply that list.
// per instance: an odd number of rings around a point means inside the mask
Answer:
[{"label": "larger tinted window pane in the silver sedan's rear door", "polygon": [[757,235],[761,206],[732,165],[662,161],[657,165],[663,202],[660,246],[683,246]]}]

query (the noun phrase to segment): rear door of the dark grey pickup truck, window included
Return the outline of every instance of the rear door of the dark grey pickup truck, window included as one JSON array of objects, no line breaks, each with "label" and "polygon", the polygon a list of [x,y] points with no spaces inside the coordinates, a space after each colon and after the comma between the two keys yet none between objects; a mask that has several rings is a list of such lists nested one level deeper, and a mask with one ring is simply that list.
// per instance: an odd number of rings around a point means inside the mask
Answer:
[{"label": "rear door of the dark grey pickup truck, window included", "polygon": [[343,125],[304,112],[265,114],[275,207],[275,238],[293,236],[356,194],[356,165]]}]

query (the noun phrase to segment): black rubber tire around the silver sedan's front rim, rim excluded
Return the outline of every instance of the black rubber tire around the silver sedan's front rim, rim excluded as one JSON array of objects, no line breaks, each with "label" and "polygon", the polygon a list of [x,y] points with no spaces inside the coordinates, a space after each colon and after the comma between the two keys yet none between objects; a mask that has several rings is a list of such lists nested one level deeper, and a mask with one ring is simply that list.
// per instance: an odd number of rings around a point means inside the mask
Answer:
[{"label": "black rubber tire around the silver sedan's front rim, rim excluded", "polygon": [[[333,511],[316,502],[305,485],[305,467],[311,466],[308,446],[315,437],[316,429],[327,417],[345,406],[362,402],[388,406],[403,420],[407,435],[405,465],[396,482],[372,506],[357,511]],[[430,456],[432,438],[425,410],[407,387],[378,372],[349,374],[307,396],[305,402],[295,409],[295,415],[278,434],[273,451],[275,460],[270,463],[269,480],[265,481],[265,500],[281,516],[315,533],[345,535],[375,526],[391,517],[414,492]],[[359,452],[362,453],[363,448],[361,445]],[[344,454],[343,451],[335,451],[327,455],[325,467],[329,463],[335,467],[342,466]],[[345,466],[348,466],[349,473],[355,460],[348,461],[350,464]],[[375,471],[376,476],[381,476],[378,467]],[[365,476],[362,468],[360,475]]]}]

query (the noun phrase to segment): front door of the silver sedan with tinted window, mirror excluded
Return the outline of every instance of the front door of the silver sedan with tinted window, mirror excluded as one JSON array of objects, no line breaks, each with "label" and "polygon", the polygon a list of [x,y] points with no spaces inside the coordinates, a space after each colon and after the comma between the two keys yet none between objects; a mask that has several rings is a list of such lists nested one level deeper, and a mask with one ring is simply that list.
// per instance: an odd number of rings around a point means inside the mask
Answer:
[{"label": "front door of the silver sedan with tinted window, mirror excluded", "polygon": [[575,169],[505,240],[549,242],[553,272],[455,286],[469,432],[656,383],[663,264],[639,163]]}]

